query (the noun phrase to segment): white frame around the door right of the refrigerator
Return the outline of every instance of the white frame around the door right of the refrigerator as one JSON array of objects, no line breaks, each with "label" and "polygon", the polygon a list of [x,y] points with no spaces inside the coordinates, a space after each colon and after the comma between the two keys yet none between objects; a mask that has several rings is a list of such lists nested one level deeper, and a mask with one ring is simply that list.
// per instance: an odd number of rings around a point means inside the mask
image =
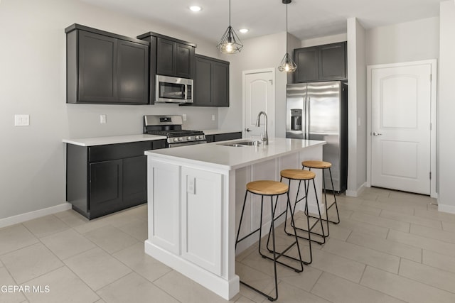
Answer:
[{"label": "white frame around the door right of the refrigerator", "polygon": [[436,179],[437,179],[437,166],[436,166],[436,128],[437,128],[437,59],[400,62],[392,64],[368,65],[367,66],[367,186],[371,187],[371,123],[372,123],[372,104],[371,104],[371,74],[372,71],[378,68],[387,67],[404,67],[409,65],[431,65],[432,70],[432,83],[431,83],[431,100],[430,100],[430,172],[432,179],[430,180],[430,197],[437,198],[436,192]]}]

